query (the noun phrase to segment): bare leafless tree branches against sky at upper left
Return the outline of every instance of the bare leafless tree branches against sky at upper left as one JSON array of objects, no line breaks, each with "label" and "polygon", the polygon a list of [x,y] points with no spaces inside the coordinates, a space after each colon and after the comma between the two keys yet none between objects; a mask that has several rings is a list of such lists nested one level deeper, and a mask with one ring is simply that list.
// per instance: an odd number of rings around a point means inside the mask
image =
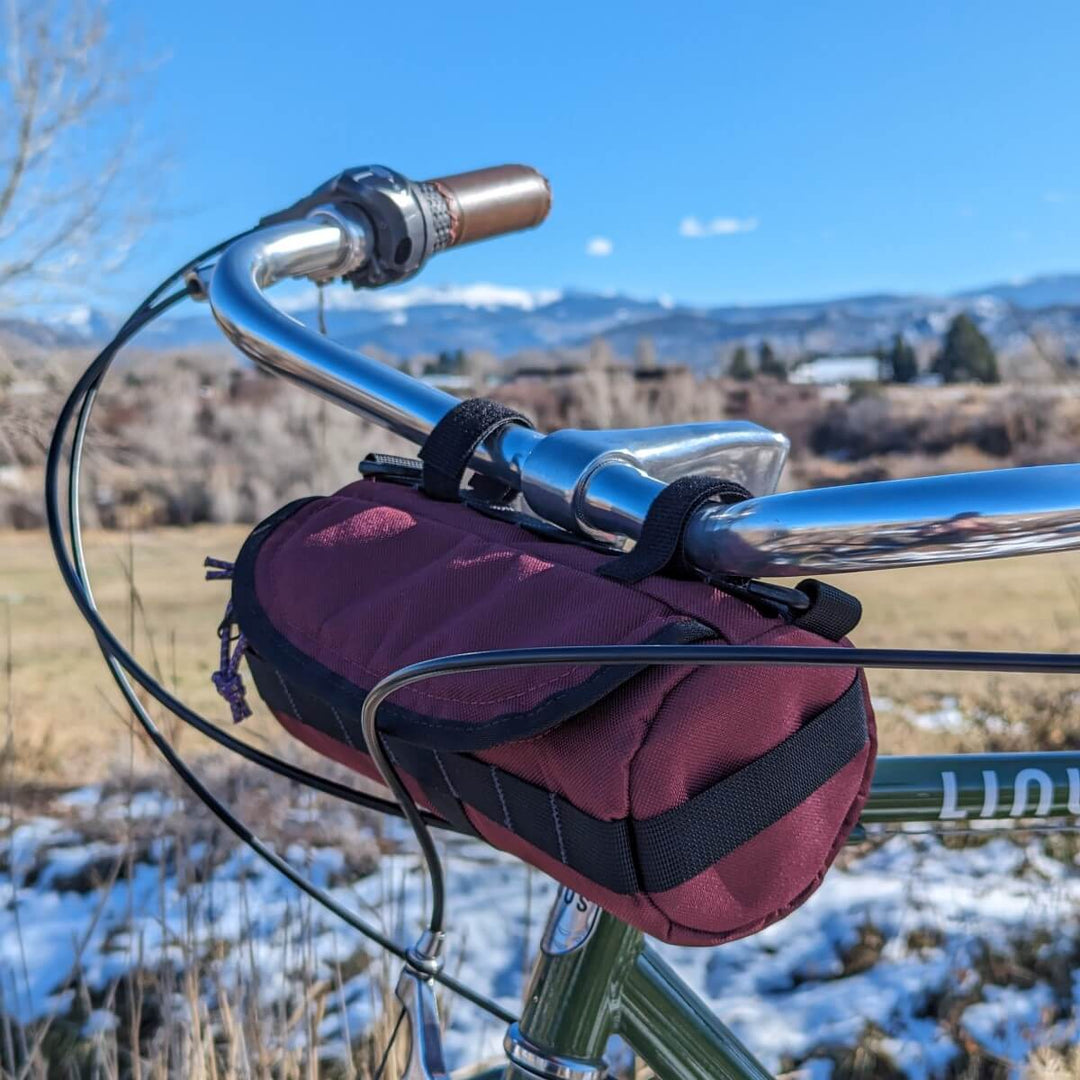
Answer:
[{"label": "bare leafless tree branches against sky at upper left", "polygon": [[[136,72],[111,48],[104,0],[0,0],[0,308],[54,298],[134,240],[121,191]],[[137,202],[137,200],[136,200]],[[78,285],[86,287],[84,274]]]}]

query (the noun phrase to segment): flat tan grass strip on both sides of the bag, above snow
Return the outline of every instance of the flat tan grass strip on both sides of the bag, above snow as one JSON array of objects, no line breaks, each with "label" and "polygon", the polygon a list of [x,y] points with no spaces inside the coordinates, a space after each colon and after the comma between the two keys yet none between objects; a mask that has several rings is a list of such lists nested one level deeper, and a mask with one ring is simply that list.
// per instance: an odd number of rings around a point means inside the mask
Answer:
[{"label": "flat tan grass strip on both sides of the bag, above snow", "polygon": [[[231,558],[245,534],[239,526],[195,526],[87,538],[97,600],[110,624],[123,639],[134,640],[138,659],[163,683],[222,723],[228,714],[210,673],[227,585],[204,582],[202,561],[206,555]],[[849,575],[836,581],[863,602],[863,624],[854,635],[862,645],[1080,651],[1080,554]],[[10,639],[9,646],[0,640],[0,651],[10,653],[0,700],[9,703],[14,738],[8,753],[14,753],[9,765],[15,774],[83,783],[126,764],[132,752],[126,711],[41,532],[0,534],[0,634]],[[870,684],[882,746],[892,753],[959,745],[948,724],[927,720],[943,703],[946,710],[1012,716],[1035,702],[1059,703],[1071,690],[1061,678],[971,673],[881,671],[870,673]],[[265,716],[242,730],[285,745]],[[186,752],[204,748],[189,730],[176,737]],[[963,744],[973,738],[968,731]],[[1059,744],[1053,731],[1049,738]]]}]

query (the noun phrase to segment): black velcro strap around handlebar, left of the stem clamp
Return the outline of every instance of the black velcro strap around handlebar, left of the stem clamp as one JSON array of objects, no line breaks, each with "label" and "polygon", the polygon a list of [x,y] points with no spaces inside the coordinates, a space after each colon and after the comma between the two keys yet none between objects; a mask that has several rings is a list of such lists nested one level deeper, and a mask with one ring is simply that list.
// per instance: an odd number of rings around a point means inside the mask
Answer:
[{"label": "black velcro strap around handlebar, left of the stem clamp", "polygon": [[[461,477],[476,447],[508,423],[527,428],[532,422],[509,405],[487,397],[470,397],[455,405],[432,429],[420,448],[423,480],[420,489],[431,499],[456,502],[461,490]],[[513,489],[497,482],[475,485],[492,502],[503,502]]]}]

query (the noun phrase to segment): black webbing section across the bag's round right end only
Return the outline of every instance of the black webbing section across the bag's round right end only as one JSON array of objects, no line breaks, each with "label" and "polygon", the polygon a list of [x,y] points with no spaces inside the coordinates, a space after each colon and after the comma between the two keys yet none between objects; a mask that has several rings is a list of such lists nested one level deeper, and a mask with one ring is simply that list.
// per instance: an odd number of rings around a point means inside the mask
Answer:
[{"label": "black webbing section across the bag's round right end only", "polygon": [[697,877],[809,798],[866,745],[859,676],[779,746],[673,810],[633,823],[642,885],[663,892]]}]

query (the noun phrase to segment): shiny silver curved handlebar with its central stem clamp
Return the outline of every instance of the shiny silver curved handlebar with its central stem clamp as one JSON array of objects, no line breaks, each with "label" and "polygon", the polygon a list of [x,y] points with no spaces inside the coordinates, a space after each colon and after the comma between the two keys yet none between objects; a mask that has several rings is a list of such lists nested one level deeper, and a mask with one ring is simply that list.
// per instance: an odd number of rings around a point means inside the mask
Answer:
[{"label": "shiny silver curved handlebar with its central stem clamp", "polygon": [[[354,269],[370,247],[362,221],[316,210],[237,241],[204,275],[204,292],[226,336],[256,364],[419,444],[457,399],[321,337],[262,295],[286,278]],[[549,521],[636,539],[665,483],[723,459],[726,474],[759,497],[694,514],[685,551],[705,573],[796,577],[1080,548],[1080,465],[771,495],[786,449],[782,435],[752,423],[552,435],[515,424],[471,464]]]}]

